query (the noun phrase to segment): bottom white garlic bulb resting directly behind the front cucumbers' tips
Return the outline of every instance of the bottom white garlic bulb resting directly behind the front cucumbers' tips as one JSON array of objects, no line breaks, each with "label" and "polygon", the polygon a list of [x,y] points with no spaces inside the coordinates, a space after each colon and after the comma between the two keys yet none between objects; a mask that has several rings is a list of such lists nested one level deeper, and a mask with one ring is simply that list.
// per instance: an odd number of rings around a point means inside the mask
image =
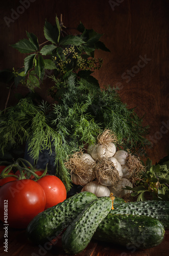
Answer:
[{"label": "bottom white garlic bulb resting directly behind the front cucumbers' tips", "polygon": [[93,193],[96,197],[109,197],[110,190],[107,186],[104,186],[98,181],[92,181],[87,183],[83,188],[82,191],[89,191]]}]

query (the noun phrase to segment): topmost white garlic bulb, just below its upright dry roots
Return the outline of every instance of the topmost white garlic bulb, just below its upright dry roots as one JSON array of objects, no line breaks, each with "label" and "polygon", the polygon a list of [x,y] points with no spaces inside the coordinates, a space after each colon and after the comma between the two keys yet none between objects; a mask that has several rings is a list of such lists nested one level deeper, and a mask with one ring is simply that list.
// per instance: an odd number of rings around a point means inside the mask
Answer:
[{"label": "topmost white garlic bulb, just below its upright dry roots", "polygon": [[90,154],[94,160],[97,158],[112,157],[115,152],[116,146],[112,142],[109,142],[107,146],[103,144],[93,144],[87,148],[87,153]]}]

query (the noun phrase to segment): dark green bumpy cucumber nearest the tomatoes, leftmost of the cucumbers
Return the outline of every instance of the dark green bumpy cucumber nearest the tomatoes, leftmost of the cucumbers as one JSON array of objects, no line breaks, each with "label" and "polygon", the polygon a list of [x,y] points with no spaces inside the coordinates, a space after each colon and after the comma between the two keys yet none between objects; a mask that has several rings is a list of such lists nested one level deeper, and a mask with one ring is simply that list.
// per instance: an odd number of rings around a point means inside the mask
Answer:
[{"label": "dark green bumpy cucumber nearest the tomatoes, leftmost of the cucumbers", "polygon": [[84,191],[38,214],[27,227],[27,237],[34,244],[43,244],[58,236],[97,197]]}]

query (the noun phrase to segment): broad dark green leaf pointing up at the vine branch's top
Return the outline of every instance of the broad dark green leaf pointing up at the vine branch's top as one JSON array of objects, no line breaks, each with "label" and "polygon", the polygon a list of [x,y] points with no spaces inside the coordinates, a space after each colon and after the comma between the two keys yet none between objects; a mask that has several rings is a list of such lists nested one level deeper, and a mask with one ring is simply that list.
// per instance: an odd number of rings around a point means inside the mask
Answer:
[{"label": "broad dark green leaf pointing up at the vine branch's top", "polygon": [[60,30],[58,30],[58,27],[56,25],[53,26],[51,23],[45,21],[43,31],[44,31],[44,36],[47,40],[53,42],[53,44],[58,43]]}]

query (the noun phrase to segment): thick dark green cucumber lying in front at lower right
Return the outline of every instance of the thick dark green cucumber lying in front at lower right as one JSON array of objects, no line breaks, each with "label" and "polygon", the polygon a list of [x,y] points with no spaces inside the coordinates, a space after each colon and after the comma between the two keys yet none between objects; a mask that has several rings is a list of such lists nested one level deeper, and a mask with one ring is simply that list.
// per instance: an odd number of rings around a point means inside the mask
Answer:
[{"label": "thick dark green cucumber lying in front at lower right", "polygon": [[93,239],[148,249],[159,245],[164,233],[163,224],[152,217],[108,214],[96,229]]}]

